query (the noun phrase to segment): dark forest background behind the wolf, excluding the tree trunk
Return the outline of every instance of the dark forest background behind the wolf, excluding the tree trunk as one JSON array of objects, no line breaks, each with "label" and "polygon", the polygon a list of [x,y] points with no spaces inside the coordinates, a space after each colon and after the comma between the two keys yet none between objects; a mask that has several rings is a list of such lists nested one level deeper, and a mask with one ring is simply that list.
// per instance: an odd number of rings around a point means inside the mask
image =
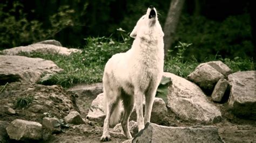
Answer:
[{"label": "dark forest background behind the wolf, excluding the tree trunk", "polygon": [[[117,29],[121,27],[129,34],[149,5],[158,10],[163,27],[170,3],[170,0],[1,0],[0,48],[46,39],[56,39],[73,48],[86,48],[87,37],[111,36],[119,40]],[[255,57],[254,6],[254,1],[185,1],[171,49],[178,41],[192,43],[184,56],[187,59],[193,56],[198,61],[211,56]]]}]

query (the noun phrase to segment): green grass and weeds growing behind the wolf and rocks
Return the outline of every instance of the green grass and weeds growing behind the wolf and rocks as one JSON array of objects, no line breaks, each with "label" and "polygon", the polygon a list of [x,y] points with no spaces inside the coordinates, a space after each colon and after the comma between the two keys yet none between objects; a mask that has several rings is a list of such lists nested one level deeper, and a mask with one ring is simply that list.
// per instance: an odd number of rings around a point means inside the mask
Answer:
[{"label": "green grass and weeds growing behind the wolf and rocks", "polygon": [[[84,47],[82,53],[72,53],[69,56],[64,55],[49,55],[42,53],[20,53],[20,55],[29,56],[32,58],[42,58],[51,60],[56,63],[59,68],[64,69],[62,73],[55,74],[50,77],[49,80],[43,82],[46,85],[59,84],[64,88],[69,88],[77,83],[96,83],[102,82],[102,76],[104,72],[104,66],[107,60],[111,58],[113,54],[125,52],[130,49],[130,38],[127,35],[122,35],[123,41],[117,42],[111,38],[87,38],[87,45]],[[198,65],[199,62],[195,58],[184,61],[184,53],[186,48],[191,44],[184,44],[180,42],[178,53],[171,55],[165,59],[164,71],[176,74],[181,77],[187,77]],[[207,59],[207,61],[221,60],[228,67],[235,71],[254,70],[253,59],[241,59],[235,58],[222,59],[215,56],[213,59]]]}]

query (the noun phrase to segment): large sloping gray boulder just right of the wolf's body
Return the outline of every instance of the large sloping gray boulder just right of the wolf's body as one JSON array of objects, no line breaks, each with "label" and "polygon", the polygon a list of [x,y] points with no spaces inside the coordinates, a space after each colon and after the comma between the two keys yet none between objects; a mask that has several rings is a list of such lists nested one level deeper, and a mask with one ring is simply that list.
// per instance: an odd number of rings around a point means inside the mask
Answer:
[{"label": "large sloping gray boulder just right of the wolf's body", "polygon": [[171,73],[164,73],[171,77],[167,107],[183,120],[196,121],[203,124],[221,121],[220,110],[208,101],[204,92],[194,83]]}]

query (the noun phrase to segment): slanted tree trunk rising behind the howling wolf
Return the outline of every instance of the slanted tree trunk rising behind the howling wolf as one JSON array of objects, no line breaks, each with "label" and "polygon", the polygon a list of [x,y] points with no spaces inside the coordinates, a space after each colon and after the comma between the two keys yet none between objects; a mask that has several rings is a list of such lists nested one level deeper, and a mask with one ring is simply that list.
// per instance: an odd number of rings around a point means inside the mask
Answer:
[{"label": "slanted tree trunk rising behind the howling wolf", "polygon": [[168,15],[164,25],[164,53],[167,55],[168,50],[173,43],[173,35],[176,31],[181,10],[185,0],[172,0],[169,8]]}]

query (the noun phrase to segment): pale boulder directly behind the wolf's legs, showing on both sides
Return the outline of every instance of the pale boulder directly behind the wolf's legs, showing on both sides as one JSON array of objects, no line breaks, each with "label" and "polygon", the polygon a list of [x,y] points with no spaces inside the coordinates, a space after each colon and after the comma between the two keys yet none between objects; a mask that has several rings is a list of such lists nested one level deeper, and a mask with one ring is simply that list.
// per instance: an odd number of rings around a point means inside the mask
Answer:
[{"label": "pale boulder directly behind the wolf's legs, showing on both sides", "polygon": [[[104,113],[104,94],[99,94],[95,100],[92,101],[90,111],[87,115],[87,119],[96,121],[99,124],[103,124],[105,119],[105,113]],[[145,108],[145,99],[143,102],[143,109]],[[123,108],[121,109],[124,110]],[[165,102],[161,98],[154,98],[153,102],[153,108],[151,112],[151,122],[152,123],[159,123],[161,119],[165,117],[167,113],[167,108],[165,105]],[[136,120],[136,110],[133,109],[133,112],[131,113],[130,120]]]}]

